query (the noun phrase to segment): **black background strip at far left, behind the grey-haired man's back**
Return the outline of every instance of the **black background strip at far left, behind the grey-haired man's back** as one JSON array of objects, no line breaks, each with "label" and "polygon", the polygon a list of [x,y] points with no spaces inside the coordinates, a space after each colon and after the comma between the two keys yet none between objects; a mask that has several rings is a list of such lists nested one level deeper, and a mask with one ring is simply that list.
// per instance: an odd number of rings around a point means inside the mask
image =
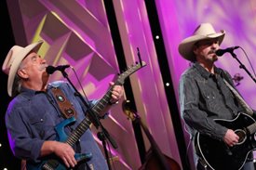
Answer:
[{"label": "black background strip at far left, behind the grey-haired man's back", "polygon": [[[7,56],[8,50],[11,46],[15,45],[14,36],[12,33],[11,23],[9,20],[7,2],[6,0],[0,3],[1,14],[1,44],[0,44],[0,66],[2,68],[3,62]],[[7,168],[8,170],[20,169],[20,161],[13,157],[7,141],[7,128],[5,124],[5,114],[7,111],[7,103],[10,98],[7,95],[7,75],[4,72],[0,72],[1,86],[0,86],[0,169]]]}]

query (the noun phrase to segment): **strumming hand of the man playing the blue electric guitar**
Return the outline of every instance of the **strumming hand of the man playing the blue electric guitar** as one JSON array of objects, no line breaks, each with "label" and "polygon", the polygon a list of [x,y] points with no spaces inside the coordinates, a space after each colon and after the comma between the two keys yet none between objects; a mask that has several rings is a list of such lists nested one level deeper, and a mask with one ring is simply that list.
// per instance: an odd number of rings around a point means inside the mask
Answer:
[{"label": "strumming hand of the man playing the blue electric guitar", "polygon": [[51,153],[54,153],[60,157],[67,167],[74,167],[77,164],[76,160],[74,159],[75,152],[67,143],[45,141],[41,148],[41,156],[43,157]]}]

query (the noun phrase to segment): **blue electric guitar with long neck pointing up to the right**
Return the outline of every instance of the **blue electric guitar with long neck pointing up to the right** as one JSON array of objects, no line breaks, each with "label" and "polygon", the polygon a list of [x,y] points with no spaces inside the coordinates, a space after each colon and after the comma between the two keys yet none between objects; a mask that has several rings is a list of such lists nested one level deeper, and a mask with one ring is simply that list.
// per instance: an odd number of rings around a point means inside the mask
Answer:
[{"label": "blue electric guitar with long neck pointing up to the right", "polygon": [[[117,80],[115,81],[115,85],[124,85],[125,79],[128,78],[129,75],[131,75],[133,72],[137,72],[142,67],[146,65],[145,62],[141,61],[140,63],[137,63],[136,65],[132,65],[128,68],[126,72],[122,72],[120,75],[118,75]],[[112,94],[112,88],[111,87],[107,93],[92,107],[92,111],[94,113],[100,113],[103,111],[106,106],[108,105],[111,94]],[[72,134],[70,136],[67,136],[64,132],[64,127],[69,124],[74,124],[75,118],[71,117],[69,119],[65,119],[61,124],[57,124],[55,127],[55,130],[57,132],[58,138],[56,140],[64,142],[69,144],[70,146],[74,146],[75,142],[82,137],[82,135],[88,130],[89,125],[91,124],[89,115],[85,117],[85,119],[78,124]],[[81,162],[87,162],[91,159],[93,155],[91,153],[75,153],[74,157],[77,161],[77,163]],[[26,164],[27,170],[38,170],[38,169],[44,169],[44,170],[65,170],[68,169],[64,163],[62,163],[61,159],[57,158],[56,156],[48,156],[42,159],[41,163],[27,163]],[[74,168],[75,169],[75,168]]]}]

